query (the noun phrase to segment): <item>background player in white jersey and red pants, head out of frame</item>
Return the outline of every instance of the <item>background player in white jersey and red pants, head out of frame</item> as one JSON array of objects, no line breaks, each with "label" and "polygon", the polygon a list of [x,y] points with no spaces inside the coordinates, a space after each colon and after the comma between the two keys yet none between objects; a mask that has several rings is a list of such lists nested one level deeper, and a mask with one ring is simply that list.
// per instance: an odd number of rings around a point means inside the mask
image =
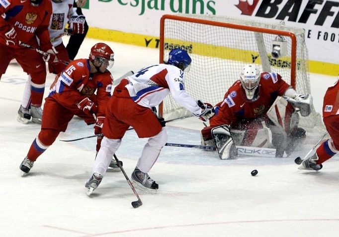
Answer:
[{"label": "background player in white jersey and red pants, head out of frame", "polygon": [[[72,33],[84,33],[85,17],[79,16],[73,8],[74,0],[52,0],[52,15],[48,27],[51,43],[57,53],[59,61],[48,61],[48,68],[50,73],[59,74],[62,72],[67,64],[70,62],[67,50],[63,44],[62,37],[65,35],[65,29],[70,23],[69,31]],[[43,65],[45,66],[45,65]],[[23,98],[20,109],[18,111],[17,120],[22,123],[27,123],[32,117],[32,121],[41,123],[42,109],[41,107],[31,107],[31,88],[35,85],[31,82],[30,75],[25,86]]]}]

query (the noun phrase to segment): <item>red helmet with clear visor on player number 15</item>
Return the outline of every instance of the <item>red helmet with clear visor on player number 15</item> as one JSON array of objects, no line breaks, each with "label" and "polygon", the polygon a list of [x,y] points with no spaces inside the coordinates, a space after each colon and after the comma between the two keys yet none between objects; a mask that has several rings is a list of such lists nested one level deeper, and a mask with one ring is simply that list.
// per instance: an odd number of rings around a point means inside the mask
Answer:
[{"label": "red helmet with clear visor on player number 15", "polygon": [[89,60],[97,61],[99,67],[104,63],[108,65],[107,68],[111,68],[114,64],[114,52],[107,44],[97,43],[90,49]]}]

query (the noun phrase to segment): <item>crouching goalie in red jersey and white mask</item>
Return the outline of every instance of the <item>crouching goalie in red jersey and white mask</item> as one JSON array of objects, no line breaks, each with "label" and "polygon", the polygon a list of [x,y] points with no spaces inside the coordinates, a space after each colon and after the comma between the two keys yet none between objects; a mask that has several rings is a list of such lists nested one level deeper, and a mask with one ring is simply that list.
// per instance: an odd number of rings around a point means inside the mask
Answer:
[{"label": "crouching goalie in red jersey and white mask", "polygon": [[277,157],[289,155],[305,137],[295,108],[308,116],[312,97],[298,95],[277,73],[260,73],[254,64],[245,65],[240,80],[216,105],[210,126],[201,130],[202,144],[215,146],[221,159],[236,157],[236,145],[276,148]]}]

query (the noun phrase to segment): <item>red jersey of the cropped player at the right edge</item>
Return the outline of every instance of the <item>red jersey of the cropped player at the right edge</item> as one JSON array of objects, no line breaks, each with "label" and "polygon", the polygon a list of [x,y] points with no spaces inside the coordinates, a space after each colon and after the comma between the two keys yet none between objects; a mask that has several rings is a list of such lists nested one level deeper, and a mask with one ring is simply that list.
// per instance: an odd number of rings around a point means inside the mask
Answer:
[{"label": "red jersey of the cropped player at the right edge", "polygon": [[339,115],[339,77],[337,82],[329,87],[324,96],[323,117]]}]

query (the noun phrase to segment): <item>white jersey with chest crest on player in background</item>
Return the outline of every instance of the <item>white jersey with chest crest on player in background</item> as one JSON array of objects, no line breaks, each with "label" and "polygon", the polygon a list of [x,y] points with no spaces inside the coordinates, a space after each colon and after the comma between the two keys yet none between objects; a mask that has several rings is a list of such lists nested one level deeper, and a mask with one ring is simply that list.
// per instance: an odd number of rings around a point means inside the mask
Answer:
[{"label": "white jersey with chest crest on player in background", "polygon": [[[71,16],[77,15],[73,9],[74,0],[65,0],[60,3],[52,2],[52,15],[49,21],[48,31],[50,38],[54,38],[64,33],[66,25],[68,24]],[[62,38],[59,38],[52,42],[53,46],[56,47],[61,44]]]}]

